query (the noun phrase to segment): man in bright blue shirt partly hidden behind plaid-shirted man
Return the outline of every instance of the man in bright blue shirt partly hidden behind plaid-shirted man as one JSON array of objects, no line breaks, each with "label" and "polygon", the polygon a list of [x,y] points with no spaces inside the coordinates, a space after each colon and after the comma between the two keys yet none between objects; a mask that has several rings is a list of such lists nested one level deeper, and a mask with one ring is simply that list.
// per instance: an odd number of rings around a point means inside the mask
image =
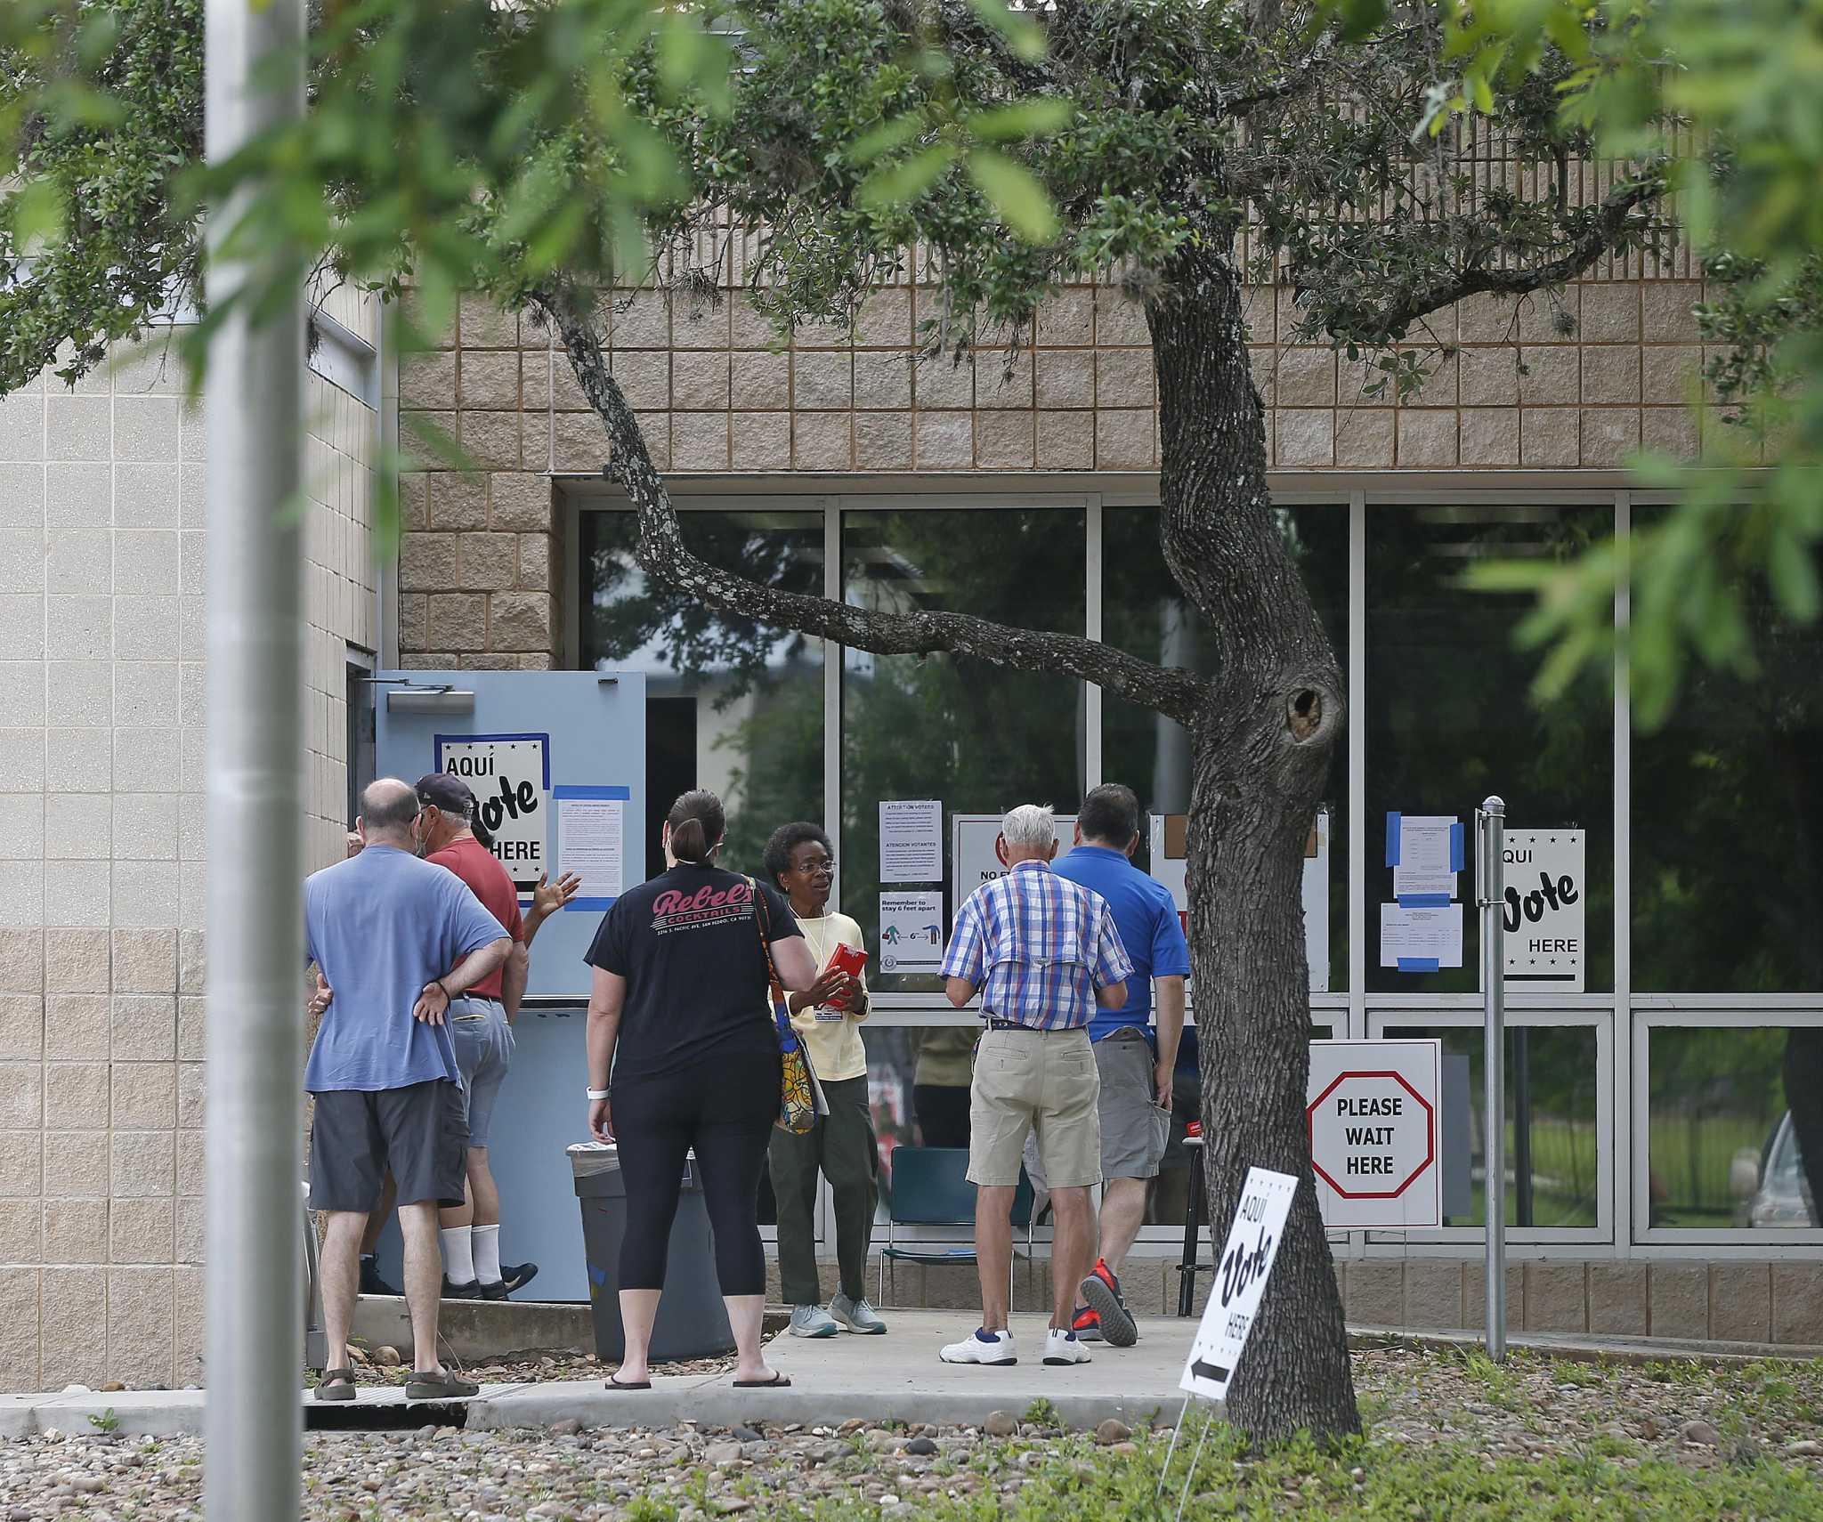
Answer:
[{"label": "man in bright blue shirt partly hidden behind plaid-shirted man", "polygon": [[[1083,1280],[1087,1301],[1076,1312],[1076,1334],[1097,1332],[1114,1347],[1139,1336],[1121,1300],[1119,1270],[1145,1221],[1147,1187],[1158,1177],[1170,1137],[1170,1081],[1183,1037],[1183,982],[1190,948],[1170,890],[1132,864],[1139,844],[1139,798],[1108,782],[1083,798],[1076,817],[1076,849],[1056,873],[1108,900],[1121,944],[1134,964],[1127,1003],[1096,1010],[1088,1023],[1101,1070],[1101,1258]],[[1158,1028],[1148,1028],[1158,988]],[[1156,1046],[1154,1046],[1156,1043]]]}]

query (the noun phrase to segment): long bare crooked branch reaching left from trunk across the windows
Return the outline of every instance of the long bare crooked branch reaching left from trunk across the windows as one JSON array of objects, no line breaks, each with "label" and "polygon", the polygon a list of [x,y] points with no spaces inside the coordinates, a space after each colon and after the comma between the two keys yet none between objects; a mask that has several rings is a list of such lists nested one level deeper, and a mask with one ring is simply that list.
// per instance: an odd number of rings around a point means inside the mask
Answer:
[{"label": "long bare crooked branch reaching left from trunk across the windows", "polygon": [[1112,645],[1076,634],[1014,629],[966,612],[881,612],[833,598],[780,592],[746,576],[722,571],[684,547],[671,494],[653,465],[638,419],[609,374],[592,321],[556,292],[534,292],[541,312],[563,339],[576,381],[607,427],[609,463],[603,474],[625,488],[640,514],[640,567],[658,580],[702,598],[709,607],[738,612],[778,629],[797,629],[873,654],[930,654],[948,651],[1017,671],[1050,671],[1094,682],[1139,707],[1179,724],[1196,724],[1210,685],[1192,671],[1154,665]]}]

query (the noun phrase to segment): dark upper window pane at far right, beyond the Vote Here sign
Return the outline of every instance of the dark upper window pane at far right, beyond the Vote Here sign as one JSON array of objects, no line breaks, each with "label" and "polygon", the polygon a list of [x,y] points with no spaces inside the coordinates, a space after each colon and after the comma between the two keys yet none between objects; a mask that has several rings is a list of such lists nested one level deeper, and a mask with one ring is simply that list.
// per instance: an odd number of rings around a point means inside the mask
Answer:
[{"label": "dark upper window pane at far right, beyond the Vote Here sign", "polygon": [[1823,625],[1781,620],[1761,581],[1748,629],[1754,676],[1694,662],[1633,736],[1641,990],[1823,992]]}]

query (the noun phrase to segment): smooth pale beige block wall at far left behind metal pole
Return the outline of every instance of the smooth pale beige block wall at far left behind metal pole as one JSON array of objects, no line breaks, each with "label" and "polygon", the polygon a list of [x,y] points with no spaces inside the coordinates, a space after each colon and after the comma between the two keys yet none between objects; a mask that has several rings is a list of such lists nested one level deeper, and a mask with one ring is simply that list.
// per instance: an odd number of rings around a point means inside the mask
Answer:
[{"label": "smooth pale beige block wall at far left behind metal pole", "polygon": [[[162,345],[0,401],[0,1389],[202,1345],[202,414]],[[310,377],[306,809],[341,853],[372,414]]]}]

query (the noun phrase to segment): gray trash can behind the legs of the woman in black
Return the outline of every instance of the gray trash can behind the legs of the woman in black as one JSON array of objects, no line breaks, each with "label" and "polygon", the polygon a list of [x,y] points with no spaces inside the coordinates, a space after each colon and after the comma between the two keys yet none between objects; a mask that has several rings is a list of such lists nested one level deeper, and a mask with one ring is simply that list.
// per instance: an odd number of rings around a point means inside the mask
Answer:
[{"label": "gray trash can behind the legs of the woman in black", "polygon": [[[620,1243],[627,1234],[627,1187],[620,1177],[620,1148],[578,1143],[569,1148],[576,1198],[582,1201],[582,1247],[589,1261],[589,1309],[594,1318],[594,1356],[618,1363],[627,1349],[620,1327]],[[665,1292],[653,1323],[651,1356],[715,1358],[731,1352],[735,1332],[715,1278],[715,1239],[702,1198],[696,1156],[684,1163],[684,1192],[671,1223]]]}]

